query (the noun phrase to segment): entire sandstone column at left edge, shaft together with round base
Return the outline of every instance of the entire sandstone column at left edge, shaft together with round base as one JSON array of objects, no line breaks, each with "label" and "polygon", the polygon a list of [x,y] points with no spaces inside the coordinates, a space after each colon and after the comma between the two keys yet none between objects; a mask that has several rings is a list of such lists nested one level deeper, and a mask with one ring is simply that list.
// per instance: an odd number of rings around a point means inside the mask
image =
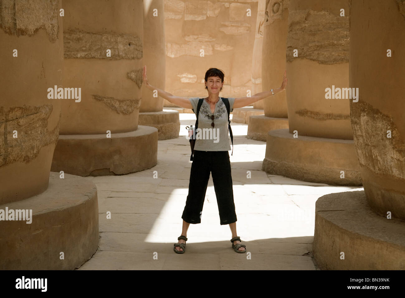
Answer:
[{"label": "entire sandstone column at left edge, shaft together with round base", "polygon": [[3,270],[72,270],[98,247],[96,186],[50,172],[64,101],[48,91],[62,84],[60,9],[60,0],[0,3]]}]

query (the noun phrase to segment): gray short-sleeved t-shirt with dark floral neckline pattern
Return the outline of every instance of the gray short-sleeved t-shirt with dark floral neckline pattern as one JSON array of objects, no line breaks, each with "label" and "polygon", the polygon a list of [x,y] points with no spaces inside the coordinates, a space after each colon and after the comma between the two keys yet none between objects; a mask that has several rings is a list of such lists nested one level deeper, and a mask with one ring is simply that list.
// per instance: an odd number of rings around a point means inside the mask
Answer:
[{"label": "gray short-sleeved t-shirt with dark floral neckline pattern", "polygon": [[[190,98],[190,103],[197,113],[198,97]],[[228,97],[229,111],[233,111],[234,97]],[[214,115],[214,120],[211,120]],[[214,122],[214,127],[211,123]],[[200,107],[200,114],[198,114],[198,130],[196,131],[196,144],[194,150],[203,151],[229,151],[229,132],[228,132],[228,112],[226,106],[222,101],[222,97],[215,105],[214,114],[212,114],[209,103],[205,100]]]}]

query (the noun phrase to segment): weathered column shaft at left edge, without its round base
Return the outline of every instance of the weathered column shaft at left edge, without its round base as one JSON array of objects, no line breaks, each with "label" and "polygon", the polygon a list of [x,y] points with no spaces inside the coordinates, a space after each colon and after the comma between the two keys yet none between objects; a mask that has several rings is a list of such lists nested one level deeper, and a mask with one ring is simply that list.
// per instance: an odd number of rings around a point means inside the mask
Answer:
[{"label": "weathered column shaft at left edge, without its round base", "polygon": [[[62,82],[63,40],[59,3],[43,4],[9,0],[0,5],[0,204],[48,188],[60,101],[48,99],[47,89]],[[31,16],[30,9],[43,17]]]}]

